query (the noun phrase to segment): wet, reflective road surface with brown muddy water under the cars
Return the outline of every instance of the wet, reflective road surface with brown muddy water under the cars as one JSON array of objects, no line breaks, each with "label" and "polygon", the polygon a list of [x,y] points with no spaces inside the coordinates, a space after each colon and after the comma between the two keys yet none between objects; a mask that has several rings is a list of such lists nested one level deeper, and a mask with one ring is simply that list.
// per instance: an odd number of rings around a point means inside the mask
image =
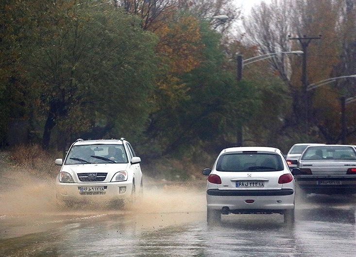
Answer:
[{"label": "wet, reflective road surface with brown muddy water under the cars", "polygon": [[297,199],[294,226],[284,225],[279,214],[231,214],[209,227],[202,190],[145,192],[139,204],[122,210],[58,209],[51,199],[25,205],[26,198],[16,203],[25,206],[12,209],[2,197],[0,206],[7,208],[0,207],[0,256],[356,256],[356,196]]}]

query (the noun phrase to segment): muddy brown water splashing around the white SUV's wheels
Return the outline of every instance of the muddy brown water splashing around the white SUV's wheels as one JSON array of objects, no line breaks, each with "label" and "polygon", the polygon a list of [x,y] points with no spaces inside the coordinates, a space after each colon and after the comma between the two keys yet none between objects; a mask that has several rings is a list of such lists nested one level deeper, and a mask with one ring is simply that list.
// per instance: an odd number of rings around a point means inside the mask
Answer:
[{"label": "muddy brown water splashing around the white SUV's wheels", "polygon": [[[35,180],[34,174],[16,174],[16,183],[0,192],[0,223],[11,237],[45,231],[63,223],[83,220],[118,220],[137,229],[158,229],[196,220],[205,220],[205,191],[185,185],[144,186],[144,193],[134,204],[113,209],[103,202],[63,208],[57,206],[54,184]],[[126,222],[125,221],[125,222]],[[12,232],[10,231],[12,230]]]}]

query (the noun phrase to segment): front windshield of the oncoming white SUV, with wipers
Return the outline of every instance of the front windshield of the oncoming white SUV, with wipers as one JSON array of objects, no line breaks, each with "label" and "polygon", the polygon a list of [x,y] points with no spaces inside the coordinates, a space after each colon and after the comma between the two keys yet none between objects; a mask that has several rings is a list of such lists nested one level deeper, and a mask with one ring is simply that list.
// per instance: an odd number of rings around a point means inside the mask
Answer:
[{"label": "front windshield of the oncoming white SUV, with wipers", "polygon": [[65,164],[127,163],[123,145],[78,145],[70,148]]}]

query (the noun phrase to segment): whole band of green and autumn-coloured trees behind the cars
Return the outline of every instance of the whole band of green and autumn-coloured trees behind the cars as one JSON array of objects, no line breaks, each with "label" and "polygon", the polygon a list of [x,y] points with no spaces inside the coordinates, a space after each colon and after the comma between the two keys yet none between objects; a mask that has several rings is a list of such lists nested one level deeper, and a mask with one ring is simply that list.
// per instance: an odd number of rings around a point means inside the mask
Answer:
[{"label": "whole band of green and autumn-coloured trees behind the cars", "polygon": [[[77,138],[125,137],[143,165],[159,166],[153,175],[185,180],[223,147],[286,153],[343,135],[356,142],[356,103],[340,104],[356,96],[355,78],[308,92],[301,82],[356,74],[352,0],[272,0],[248,16],[233,0],[3,0],[0,8],[0,142],[14,157],[23,147],[19,162],[36,165],[42,151],[63,157]],[[306,43],[305,73],[302,56],[271,55],[237,81],[237,55]]]}]

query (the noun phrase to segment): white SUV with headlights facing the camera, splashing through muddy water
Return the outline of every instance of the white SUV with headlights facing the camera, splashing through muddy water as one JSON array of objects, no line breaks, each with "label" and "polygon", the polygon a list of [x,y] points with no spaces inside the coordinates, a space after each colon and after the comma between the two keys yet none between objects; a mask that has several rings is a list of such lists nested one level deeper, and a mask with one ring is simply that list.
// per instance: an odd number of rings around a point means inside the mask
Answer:
[{"label": "white SUV with headlights facing the camera, splashing through muddy water", "polygon": [[[56,178],[56,197],[60,203],[111,202],[122,207],[142,191],[141,159],[129,142],[119,140],[75,141]],[[138,190],[137,190],[138,189]]]}]

